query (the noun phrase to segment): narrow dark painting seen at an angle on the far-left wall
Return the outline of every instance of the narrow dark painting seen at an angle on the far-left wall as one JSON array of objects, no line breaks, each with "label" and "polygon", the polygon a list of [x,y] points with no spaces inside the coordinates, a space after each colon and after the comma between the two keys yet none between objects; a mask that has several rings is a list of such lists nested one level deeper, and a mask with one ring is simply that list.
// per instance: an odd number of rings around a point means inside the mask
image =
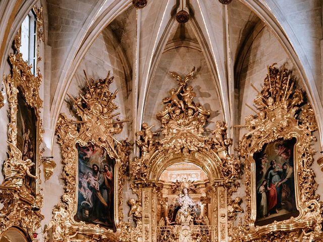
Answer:
[{"label": "narrow dark painting seen at an angle on the far-left wall", "polygon": [[34,165],[30,167],[33,176],[26,176],[26,186],[33,196],[36,195],[36,162],[37,162],[37,116],[34,108],[29,106],[23,97],[22,91],[18,92],[17,112],[17,148],[22,153],[22,159],[30,159]]}]

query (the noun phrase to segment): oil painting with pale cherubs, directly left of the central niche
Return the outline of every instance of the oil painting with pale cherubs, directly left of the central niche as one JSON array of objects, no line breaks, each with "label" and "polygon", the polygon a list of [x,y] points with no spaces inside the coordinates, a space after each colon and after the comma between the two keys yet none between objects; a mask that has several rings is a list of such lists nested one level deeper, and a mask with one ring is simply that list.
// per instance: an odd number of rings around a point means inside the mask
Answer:
[{"label": "oil painting with pale cherubs, directly left of the central niche", "polygon": [[115,160],[92,144],[78,151],[78,202],[76,219],[114,229]]}]

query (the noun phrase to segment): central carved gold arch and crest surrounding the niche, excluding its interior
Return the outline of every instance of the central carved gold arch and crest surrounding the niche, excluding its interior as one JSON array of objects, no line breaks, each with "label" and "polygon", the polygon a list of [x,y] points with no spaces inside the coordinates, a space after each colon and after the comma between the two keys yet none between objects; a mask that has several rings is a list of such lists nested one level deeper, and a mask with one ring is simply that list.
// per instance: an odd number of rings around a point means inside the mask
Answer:
[{"label": "central carved gold arch and crest surrounding the niche, excluding its interior", "polygon": [[[194,71],[195,68],[184,78],[171,72],[179,87],[177,91],[170,90],[171,96],[163,99],[164,109],[156,114],[163,126],[163,135],[158,135],[159,140],[154,137],[153,126],[149,127],[147,123],[143,123],[142,129],[137,132],[140,155],[130,163],[134,180],[131,188],[137,195],[137,201],[130,199],[128,202],[131,205],[129,216],[133,216],[137,223],[137,234],[133,230],[136,236],[131,241],[137,241],[138,236],[143,241],[156,241],[158,178],[161,172],[175,163],[194,163],[207,174],[211,211],[209,228],[214,234],[214,241],[229,241],[233,220],[241,212],[241,199],[235,200],[238,202],[232,200],[239,186],[235,180],[240,174],[240,161],[229,154],[232,139],[227,137],[224,122],[216,122],[216,130],[212,132],[214,138],[204,135],[210,113],[193,101],[196,93],[188,82],[193,79]],[[181,225],[179,228],[182,228]]]}]

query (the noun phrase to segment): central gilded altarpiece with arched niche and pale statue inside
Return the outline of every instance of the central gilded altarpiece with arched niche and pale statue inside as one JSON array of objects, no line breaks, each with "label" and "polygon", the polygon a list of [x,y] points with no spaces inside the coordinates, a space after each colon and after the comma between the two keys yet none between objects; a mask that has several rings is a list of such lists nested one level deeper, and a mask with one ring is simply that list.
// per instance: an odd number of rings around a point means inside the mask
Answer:
[{"label": "central gilded altarpiece with arched niche and pale statue inside", "polygon": [[[216,122],[213,137],[205,136],[210,113],[193,100],[196,93],[189,81],[194,71],[195,68],[185,77],[171,72],[178,86],[170,90],[170,96],[163,99],[164,109],[156,114],[161,131],[154,132],[153,126],[143,123],[137,132],[140,155],[130,163],[134,180],[131,188],[137,201],[130,199],[128,204],[129,216],[141,231],[142,241],[229,241],[232,221],[242,212],[241,199],[232,199],[239,186],[235,180],[240,174],[240,161],[228,153],[232,139],[227,137],[224,122]],[[160,174],[181,162],[199,166],[208,177],[207,183],[197,188],[192,181],[183,179],[163,188]],[[173,189],[178,196],[173,218],[165,215],[169,210],[168,197],[161,193],[165,188]],[[190,197],[196,189],[205,191],[205,197],[198,201],[205,208],[204,214],[197,214],[197,204]]]}]

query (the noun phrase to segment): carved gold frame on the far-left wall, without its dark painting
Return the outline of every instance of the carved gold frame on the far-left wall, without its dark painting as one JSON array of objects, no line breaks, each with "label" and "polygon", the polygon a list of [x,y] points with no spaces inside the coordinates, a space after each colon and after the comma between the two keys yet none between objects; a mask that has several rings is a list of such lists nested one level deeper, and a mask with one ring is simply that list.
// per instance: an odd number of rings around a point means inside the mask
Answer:
[{"label": "carved gold frame on the far-left wall, without its dark painting", "polygon": [[[43,16],[42,7],[33,7],[36,14],[36,31],[37,31],[37,63],[41,61],[39,55],[39,44],[43,41]],[[36,240],[33,236],[40,227],[43,216],[38,212],[42,207],[43,197],[39,187],[41,180],[40,173],[40,144],[42,142],[43,129],[42,120],[40,119],[40,109],[42,108],[42,100],[39,97],[39,87],[42,81],[40,69],[37,68],[35,76],[31,73],[31,66],[23,60],[20,52],[21,46],[21,30],[14,39],[14,53],[9,56],[9,62],[12,66],[12,74],[4,76],[4,83],[7,91],[9,102],[9,120],[8,125],[8,144],[9,158],[4,163],[5,179],[0,186],[0,202],[4,207],[0,211],[0,234],[12,226],[19,227],[30,239]],[[22,151],[17,148],[17,112],[18,92],[22,92],[28,106],[34,109],[36,124],[36,191],[35,196],[30,190],[26,189],[26,176],[30,176],[29,168],[33,165],[30,160],[22,160]],[[22,107],[21,107],[22,108]]]}]

